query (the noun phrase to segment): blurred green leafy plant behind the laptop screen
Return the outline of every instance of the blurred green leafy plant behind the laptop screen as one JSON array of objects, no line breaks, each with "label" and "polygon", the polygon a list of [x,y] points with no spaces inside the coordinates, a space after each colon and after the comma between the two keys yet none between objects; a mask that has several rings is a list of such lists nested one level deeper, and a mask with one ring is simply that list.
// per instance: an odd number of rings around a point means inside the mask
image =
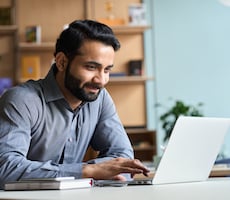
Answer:
[{"label": "blurred green leafy plant behind the laptop screen", "polygon": [[169,139],[172,133],[172,129],[176,123],[177,118],[180,115],[184,116],[200,116],[203,114],[200,111],[200,107],[203,103],[199,103],[196,107],[191,105],[186,105],[180,100],[177,100],[175,104],[164,114],[160,116],[160,121],[162,122],[162,128],[165,131],[164,142]]}]

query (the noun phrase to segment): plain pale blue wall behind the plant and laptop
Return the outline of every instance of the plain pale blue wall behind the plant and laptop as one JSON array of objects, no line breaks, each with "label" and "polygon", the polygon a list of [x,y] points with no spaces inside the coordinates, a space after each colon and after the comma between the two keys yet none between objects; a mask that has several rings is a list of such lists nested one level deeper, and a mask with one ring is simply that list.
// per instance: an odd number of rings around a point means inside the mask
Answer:
[{"label": "plain pale blue wall behind the plant and laptop", "polygon": [[[146,1],[152,10],[155,101],[204,103],[209,117],[230,117],[230,7],[218,0]],[[162,143],[156,111],[158,144]],[[195,146],[195,144],[194,144]],[[230,157],[230,135],[224,147]]]}]

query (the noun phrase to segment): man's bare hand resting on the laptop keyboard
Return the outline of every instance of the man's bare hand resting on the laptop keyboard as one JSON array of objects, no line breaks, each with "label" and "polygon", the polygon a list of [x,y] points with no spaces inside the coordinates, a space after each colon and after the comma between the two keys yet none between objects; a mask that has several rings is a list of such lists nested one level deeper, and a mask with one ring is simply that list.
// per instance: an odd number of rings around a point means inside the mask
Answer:
[{"label": "man's bare hand resting on the laptop keyboard", "polygon": [[82,176],[84,178],[98,179],[115,179],[125,181],[121,173],[130,173],[133,177],[135,174],[143,173],[147,176],[149,170],[137,159],[114,158],[97,164],[84,165]]}]

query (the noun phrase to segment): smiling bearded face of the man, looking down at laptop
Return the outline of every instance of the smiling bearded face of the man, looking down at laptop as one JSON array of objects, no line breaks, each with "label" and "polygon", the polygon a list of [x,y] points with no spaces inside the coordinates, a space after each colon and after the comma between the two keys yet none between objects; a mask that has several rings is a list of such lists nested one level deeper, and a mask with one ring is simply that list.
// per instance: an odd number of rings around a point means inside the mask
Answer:
[{"label": "smiling bearded face of the man, looking down at laptop", "polygon": [[115,52],[101,42],[87,41],[80,48],[80,55],[68,63],[65,87],[81,101],[94,101],[109,81]]}]

